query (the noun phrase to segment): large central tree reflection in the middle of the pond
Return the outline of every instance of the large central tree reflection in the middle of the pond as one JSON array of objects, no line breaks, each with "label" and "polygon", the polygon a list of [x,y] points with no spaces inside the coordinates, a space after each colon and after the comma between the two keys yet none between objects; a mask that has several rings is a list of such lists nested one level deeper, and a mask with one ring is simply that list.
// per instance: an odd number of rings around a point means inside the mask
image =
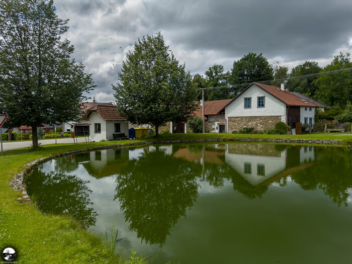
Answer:
[{"label": "large central tree reflection in the middle of the pond", "polygon": [[163,151],[145,152],[129,161],[117,178],[116,196],[130,230],[150,244],[166,236],[198,197],[199,165],[175,159]]}]

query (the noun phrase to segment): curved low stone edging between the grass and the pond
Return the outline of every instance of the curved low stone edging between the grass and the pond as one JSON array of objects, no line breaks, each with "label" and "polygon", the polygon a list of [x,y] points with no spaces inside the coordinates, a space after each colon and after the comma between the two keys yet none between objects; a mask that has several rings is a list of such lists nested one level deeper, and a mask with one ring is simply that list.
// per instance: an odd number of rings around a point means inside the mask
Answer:
[{"label": "curved low stone edging between the grass and the pond", "polygon": [[341,140],[313,140],[313,139],[262,139],[262,138],[215,138],[215,139],[183,139],[183,140],[162,140],[162,141],[146,141],[146,142],[130,142],[130,143],[122,143],[122,144],[113,144],[113,145],[105,145],[105,146],[97,146],[83,149],[71,150],[68,152],[51,155],[48,157],[38,158],[34,161],[28,162],[25,164],[25,169],[14,175],[14,178],[10,182],[10,186],[15,190],[22,191],[22,197],[17,198],[20,203],[28,203],[31,201],[27,194],[26,187],[23,184],[24,177],[28,175],[32,171],[32,169],[49,159],[77,153],[77,152],[86,152],[92,150],[99,149],[109,149],[109,148],[118,148],[118,147],[127,147],[127,146],[135,146],[135,145],[149,145],[149,144],[160,144],[160,143],[187,143],[187,142],[223,142],[223,141],[254,141],[254,142],[278,142],[278,143],[309,143],[309,144],[341,144]]}]

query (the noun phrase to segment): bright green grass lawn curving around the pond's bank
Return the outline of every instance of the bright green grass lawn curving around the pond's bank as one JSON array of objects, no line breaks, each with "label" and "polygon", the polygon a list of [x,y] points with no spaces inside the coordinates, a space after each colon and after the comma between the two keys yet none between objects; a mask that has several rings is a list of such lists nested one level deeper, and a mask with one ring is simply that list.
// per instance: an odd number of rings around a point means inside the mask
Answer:
[{"label": "bright green grass lawn curving around the pond's bank", "polygon": [[94,146],[180,139],[212,138],[303,138],[342,140],[352,142],[352,134],[308,135],[241,135],[241,134],[163,134],[158,138],[149,136],[135,140],[92,142],[78,144],[43,145],[37,150],[30,148],[4,151],[0,155],[0,248],[12,246],[17,249],[19,263],[145,263],[143,259],[132,260],[111,255],[100,237],[83,230],[68,216],[44,215],[34,203],[20,204],[21,196],[9,186],[13,174],[21,171],[24,164],[39,157],[47,157],[74,149]]}]

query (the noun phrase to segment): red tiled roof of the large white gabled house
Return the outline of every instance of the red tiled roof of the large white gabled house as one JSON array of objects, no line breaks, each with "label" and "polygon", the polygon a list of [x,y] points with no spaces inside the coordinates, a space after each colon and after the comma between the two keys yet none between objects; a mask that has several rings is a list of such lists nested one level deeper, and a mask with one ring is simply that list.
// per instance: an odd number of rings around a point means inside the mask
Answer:
[{"label": "red tiled roof of the large white gabled house", "polygon": [[[277,86],[262,84],[262,83],[258,83],[258,82],[253,82],[253,84],[259,86],[261,89],[263,89],[263,90],[267,91],[269,94],[275,96],[277,99],[281,100],[286,105],[318,107],[316,104],[309,102],[309,101],[306,101],[302,98],[299,98],[298,96],[295,96],[295,95],[291,94],[290,92],[282,91]],[[250,84],[245,90],[247,90],[253,84]],[[245,90],[243,90],[243,91],[245,91]]]}]

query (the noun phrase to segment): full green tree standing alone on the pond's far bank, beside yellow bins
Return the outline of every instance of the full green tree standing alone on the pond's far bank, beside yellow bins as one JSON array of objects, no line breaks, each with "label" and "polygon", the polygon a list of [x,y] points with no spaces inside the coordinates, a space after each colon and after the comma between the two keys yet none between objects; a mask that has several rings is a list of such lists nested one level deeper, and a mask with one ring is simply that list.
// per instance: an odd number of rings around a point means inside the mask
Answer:
[{"label": "full green tree standing alone on the pond's far bank, beside yellow bins", "polygon": [[159,33],[138,39],[123,61],[113,85],[119,113],[135,124],[158,128],[168,121],[186,121],[197,98],[192,75],[180,65]]}]

